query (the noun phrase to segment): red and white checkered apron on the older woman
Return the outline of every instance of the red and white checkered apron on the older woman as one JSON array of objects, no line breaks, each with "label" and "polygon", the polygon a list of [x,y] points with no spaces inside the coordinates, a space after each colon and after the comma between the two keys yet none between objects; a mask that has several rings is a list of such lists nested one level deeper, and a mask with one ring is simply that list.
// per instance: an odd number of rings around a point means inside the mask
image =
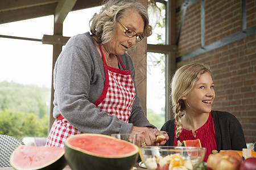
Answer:
[{"label": "red and white checkered apron on the older woman", "polygon": [[[105,111],[110,115],[118,117],[122,121],[128,122],[131,107],[133,107],[136,95],[131,72],[125,69],[119,56],[117,56],[117,58],[124,70],[109,67],[106,64],[102,49],[101,55],[102,61],[104,62],[106,79],[104,90],[94,104],[101,111]],[[80,133],[82,133],[82,131],[69,124],[69,122],[60,115],[52,125],[46,146],[64,147],[67,137]]]}]

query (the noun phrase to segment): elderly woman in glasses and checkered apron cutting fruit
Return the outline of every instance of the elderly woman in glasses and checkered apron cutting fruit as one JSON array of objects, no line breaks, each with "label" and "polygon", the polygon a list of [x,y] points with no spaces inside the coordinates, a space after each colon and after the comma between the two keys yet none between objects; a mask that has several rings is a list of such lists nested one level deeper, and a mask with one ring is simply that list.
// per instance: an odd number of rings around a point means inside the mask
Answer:
[{"label": "elderly woman in glasses and checkered apron cutting fruit", "polygon": [[79,133],[136,133],[138,146],[164,145],[155,142],[160,131],[139,105],[133,61],[125,53],[151,35],[146,8],[136,0],[105,1],[90,24],[90,33],[72,37],[57,59],[56,120],[46,145],[63,147]]}]

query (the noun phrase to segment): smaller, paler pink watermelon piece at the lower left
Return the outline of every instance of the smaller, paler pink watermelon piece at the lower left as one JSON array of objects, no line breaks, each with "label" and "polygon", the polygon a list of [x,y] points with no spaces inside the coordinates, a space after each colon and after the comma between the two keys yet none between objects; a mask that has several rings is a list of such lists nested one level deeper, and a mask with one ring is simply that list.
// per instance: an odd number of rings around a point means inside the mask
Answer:
[{"label": "smaller, paler pink watermelon piece at the lower left", "polygon": [[14,169],[63,169],[67,162],[64,148],[20,145],[10,156]]}]

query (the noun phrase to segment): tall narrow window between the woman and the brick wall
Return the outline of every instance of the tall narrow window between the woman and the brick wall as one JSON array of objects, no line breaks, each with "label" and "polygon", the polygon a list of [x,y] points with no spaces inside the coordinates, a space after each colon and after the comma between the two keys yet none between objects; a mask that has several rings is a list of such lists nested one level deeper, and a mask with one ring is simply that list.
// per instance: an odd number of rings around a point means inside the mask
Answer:
[{"label": "tall narrow window between the woman and the brick wall", "polygon": [[[154,14],[152,14],[154,12]],[[152,35],[147,44],[166,44],[166,6],[148,4]],[[156,128],[162,128],[166,115],[166,55],[147,53],[147,118]]]}]

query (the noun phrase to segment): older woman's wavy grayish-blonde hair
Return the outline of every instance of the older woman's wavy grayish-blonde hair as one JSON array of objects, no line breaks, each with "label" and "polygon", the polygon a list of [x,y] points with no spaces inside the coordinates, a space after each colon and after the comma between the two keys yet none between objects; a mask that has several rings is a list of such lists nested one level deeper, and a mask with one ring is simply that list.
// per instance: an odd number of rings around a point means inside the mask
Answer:
[{"label": "older woman's wavy grayish-blonde hair", "polygon": [[90,19],[90,32],[97,36],[98,43],[106,44],[112,39],[118,21],[125,16],[127,10],[135,10],[142,16],[143,36],[148,37],[152,34],[147,9],[137,0],[105,0],[102,4],[104,7],[101,8],[99,14],[94,14]]}]

